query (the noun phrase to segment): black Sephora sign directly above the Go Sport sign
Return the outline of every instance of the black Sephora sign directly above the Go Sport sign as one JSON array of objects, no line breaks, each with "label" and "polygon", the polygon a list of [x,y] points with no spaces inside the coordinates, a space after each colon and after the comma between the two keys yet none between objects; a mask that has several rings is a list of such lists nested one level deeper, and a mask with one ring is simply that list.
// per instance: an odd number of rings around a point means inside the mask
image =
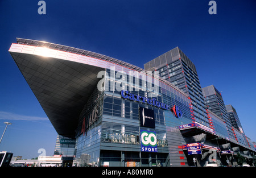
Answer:
[{"label": "black Sephora sign directly above the Go Sport sign", "polygon": [[155,128],[155,114],[154,110],[144,107],[139,108],[139,119],[142,127]]}]

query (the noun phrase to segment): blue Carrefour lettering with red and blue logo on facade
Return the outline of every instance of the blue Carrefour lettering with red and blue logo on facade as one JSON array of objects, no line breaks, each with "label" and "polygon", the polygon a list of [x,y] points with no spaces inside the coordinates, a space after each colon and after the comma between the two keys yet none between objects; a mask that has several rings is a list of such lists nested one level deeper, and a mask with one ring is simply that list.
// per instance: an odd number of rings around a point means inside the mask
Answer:
[{"label": "blue Carrefour lettering with red and blue logo on facade", "polygon": [[127,100],[131,100],[131,101],[136,101],[136,102],[142,102],[143,104],[148,104],[151,106],[155,106],[158,107],[160,109],[166,109],[166,110],[171,110],[172,113],[174,113],[176,118],[181,118],[183,113],[181,112],[180,108],[177,105],[174,105],[173,107],[164,104],[158,100],[156,100],[155,98],[147,98],[147,97],[142,97],[139,96],[137,94],[133,94],[133,93],[129,93],[126,90],[122,90],[121,91],[121,96],[122,98],[125,98]]}]

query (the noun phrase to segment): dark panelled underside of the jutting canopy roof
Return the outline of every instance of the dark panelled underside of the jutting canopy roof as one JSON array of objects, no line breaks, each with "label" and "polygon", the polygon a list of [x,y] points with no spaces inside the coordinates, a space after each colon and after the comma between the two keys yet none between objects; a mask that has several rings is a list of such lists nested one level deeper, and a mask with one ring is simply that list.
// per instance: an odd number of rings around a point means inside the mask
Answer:
[{"label": "dark panelled underside of the jutting canopy roof", "polygon": [[10,53],[57,133],[73,138],[79,114],[100,80],[97,73],[104,69],[53,57]]}]

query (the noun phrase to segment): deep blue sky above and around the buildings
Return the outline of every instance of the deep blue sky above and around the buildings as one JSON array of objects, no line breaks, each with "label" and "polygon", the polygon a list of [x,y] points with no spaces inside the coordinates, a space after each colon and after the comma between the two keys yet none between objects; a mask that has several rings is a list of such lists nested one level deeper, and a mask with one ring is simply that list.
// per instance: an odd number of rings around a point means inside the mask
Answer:
[{"label": "deep blue sky above and around the buildings", "polygon": [[256,141],[256,2],[0,1],[0,150],[23,158],[44,148],[53,155],[57,133],[8,50],[15,38],[43,40],[102,53],[143,68],[179,46],[196,65],[202,87],[214,85],[232,104],[245,134]]}]

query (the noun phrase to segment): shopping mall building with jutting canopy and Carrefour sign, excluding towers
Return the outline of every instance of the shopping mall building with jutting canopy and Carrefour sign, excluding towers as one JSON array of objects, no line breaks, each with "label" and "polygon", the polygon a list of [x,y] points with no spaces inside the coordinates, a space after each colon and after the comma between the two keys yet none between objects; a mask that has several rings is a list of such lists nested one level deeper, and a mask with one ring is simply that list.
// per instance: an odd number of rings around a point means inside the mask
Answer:
[{"label": "shopping mall building with jutting canopy and Carrefour sign, excluding towers", "polygon": [[237,152],[252,162],[249,138],[232,139],[210,110],[197,121],[191,97],[156,70],[38,40],[17,38],[9,52],[61,137],[55,154],[77,166],[234,165]]}]

